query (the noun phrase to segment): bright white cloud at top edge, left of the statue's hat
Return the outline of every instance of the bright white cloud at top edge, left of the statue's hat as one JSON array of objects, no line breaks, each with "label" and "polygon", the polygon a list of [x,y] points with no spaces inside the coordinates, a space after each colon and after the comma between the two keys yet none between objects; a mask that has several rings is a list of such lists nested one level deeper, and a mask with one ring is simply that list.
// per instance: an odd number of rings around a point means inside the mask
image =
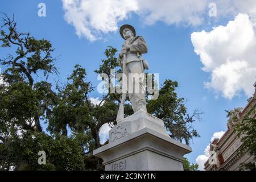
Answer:
[{"label": "bright white cloud at top edge, left of the statue's hat", "polygon": [[138,10],[135,0],[63,0],[64,18],[75,26],[78,36],[90,41],[101,38],[101,33],[117,30],[117,22]]}]

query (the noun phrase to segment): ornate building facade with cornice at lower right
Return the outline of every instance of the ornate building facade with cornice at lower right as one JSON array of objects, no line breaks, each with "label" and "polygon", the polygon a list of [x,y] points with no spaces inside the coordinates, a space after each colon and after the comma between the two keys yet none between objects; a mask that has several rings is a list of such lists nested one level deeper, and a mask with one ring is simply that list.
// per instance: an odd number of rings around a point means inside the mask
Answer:
[{"label": "ornate building facade with cornice at lower right", "polygon": [[238,152],[242,142],[234,130],[234,125],[246,116],[256,118],[256,82],[254,87],[254,96],[245,108],[238,107],[230,111],[228,130],[220,139],[216,138],[210,143],[210,157],[204,163],[206,171],[236,171],[241,169],[242,164],[255,164],[254,156],[248,155],[247,152]]}]

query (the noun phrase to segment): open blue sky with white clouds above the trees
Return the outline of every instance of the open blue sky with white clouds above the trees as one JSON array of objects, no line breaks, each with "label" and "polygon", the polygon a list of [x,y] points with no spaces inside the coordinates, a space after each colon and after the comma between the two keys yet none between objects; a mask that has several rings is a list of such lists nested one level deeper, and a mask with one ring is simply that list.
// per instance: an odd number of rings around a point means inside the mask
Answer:
[{"label": "open blue sky with white clouds above the trees", "polygon": [[[136,1],[130,2],[136,3]],[[38,4],[40,2],[46,4],[46,17],[38,16]],[[92,23],[90,26],[86,26],[86,23],[81,27],[77,26],[76,23],[80,20],[77,20],[78,16],[74,15],[77,13],[76,9],[73,9],[72,12],[68,8],[64,10],[63,2],[49,0],[1,1],[0,11],[9,16],[15,14],[20,32],[30,32],[35,38],[45,38],[51,41],[55,48],[54,55],[60,56],[56,64],[60,75],[58,77],[51,76],[50,80],[52,82],[53,80],[65,81],[65,78],[71,74],[73,66],[80,64],[86,69],[88,80],[92,81],[94,86],[97,86],[99,81],[93,71],[101,64],[101,59],[105,58],[105,49],[107,46],[113,46],[119,51],[123,43],[118,30],[115,28],[122,24],[132,24],[137,31],[137,35],[142,35],[147,42],[148,53],[144,55],[144,58],[150,64],[149,72],[159,73],[160,84],[167,78],[179,82],[177,93],[180,97],[189,100],[187,103],[189,113],[192,113],[194,109],[200,109],[204,112],[202,115],[203,122],[194,124],[201,138],[195,138],[191,143],[193,151],[186,155],[190,162],[195,163],[199,155],[204,155],[204,150],[214,133],[226,131],[227,118],[224,110],[234,109],[238,106],[244,107],[250,92],[253,94],[256,65],[252,63],[249,55],[251,55],[250,49],[254,46],[255,35],[253,32],[255,27],[253,23],[255,22],[253,22],[254,19],[248,17],[254,15],[250,8],[256,5],[245,6],[241,5],[240,1],[234,4],[230,1],[226,1],[226,4],[216,1],[219,14],[216,17],[209,17],[207,1],[196,2],[201,3],[201,5],[184,4],[175,6],[172,6],[172,3],[178,4],[183,1],[170,1],[166,5],[164,5],[164,1],[160,1],[159,4],[163,3],[163,5],[158,5],[156,9],[164,8],[163,12],[153,10],[150,1],[148,1],[149,5],[147,7],[138,6],[135,10],[123,7],[125,15],[119,16],[119,19],[112,19],[109,23],[114,24],[108,28],[106,26],[108,23],[105,22],[100,22],[97,25],[97,18],[96,24],[95,22],[89,22]],[[220,8],[218,3],[221,4]],[[97,3],[90,6],[96,8]],[[170,10],[166,6],[170,6]],[[188,10],[183,6],[189,6]],[[176,9],[171,7],[176,7]],[[233,8],[228,9],[228,7]],[[149,13],[143,14],[143,8]],[[116,11],[116,9],[113,9],[113,11]],[[173,11],[175,12],[173,13]],[[67,18],[64,18],[64,14],[67,12],[74,15],[73,19],[70,18],[71,23],[68,23]],[[93,16],[97,16],[94,12],[97,13],[97,10],[89,12],[92,19]],[[159,12],[163,14],[159,15]],[[88,14],[85,11],[82,11],[82,13],[84,13],[82,18],[86,18]],[[239,16],[239,13],[248,15],[248,17]],[[177,14],[181,15],[177,17]],[[108,16],[109,14],[102,15]],[[191,20],[189,17],[194,15],[195,17],[192,17]],[[234,20],[236,17],[237,20]],[[245,28],[239,28],[239,18],[242,22],[248,21],[247,24],[242,25]],[[234,23],[228,26],[229,20]],[[250,23],[252,26],[250,26]],[[237,24],[237,26],[234,24]],[[212,27],[220,25],[224,28],[221,29],[220,27],[213,32]],[[232,26],[234,27],[232,28]],[[92,30],[93,36],[100,37],[100,39],[92,41],[85,33],[81,33],[79,37],[76,30],[83,27]],[[231,27],[230,30],[234,31],[229,31],[225,27]],[[246,27],[248,31],[243,32]],[[203,30],[212,32],[212,34],[204,34],[201,32]],[[198,32],[198,34],[193,34],[195,36],[192,38],[191,34],[193,32]],[[224,41],[225,44],[223,41],[218,42],[223,38],[222,36],[225,36],[223,32],[228,32]],[[245,36],[239,39],[242,34]],[[235,45],[243,45],[243,47],[232,46],[234,40],[237,40]],[[250,42],[250,44],[247,44],[247,42]],[[195,49],[197,49],[198,55],[195,53]],[[236,51],[241,49],[243,52]],[[11,51],[10,49],[1,48],[0,56],[3,57],[6,53],[12,53]],[[208,59],[203,57],[204,53],[211,57],[212,62],[210,64],[208,64]],[[230,59],[233,53],[236,55],[234,60]],[[228,58],[226,59],[226,57]],[[200,61],[200,59],[203,61]],[[220,62],[220,60],[223,61]],[[205,67],[204,70],[203,67]],[[229,68],[232,68],[232,70]],[[246,75],[245,72],[246,74],[250,72],[250,74]],[[232,74],[239,77],[236,78]],[[205,84],[206,82],[208,84]],[[101,95],[95,90],[90,97],[100,98]]]}]

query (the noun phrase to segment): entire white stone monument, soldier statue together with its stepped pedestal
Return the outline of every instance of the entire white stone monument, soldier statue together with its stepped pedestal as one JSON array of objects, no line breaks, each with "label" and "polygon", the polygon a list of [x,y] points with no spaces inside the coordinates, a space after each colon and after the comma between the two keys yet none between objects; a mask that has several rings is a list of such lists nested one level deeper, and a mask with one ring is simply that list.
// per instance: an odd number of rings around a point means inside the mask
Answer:
[{"label": "entire white stone monument, soldier statue together with its stepped pedestal", "polygon": [[[136,36],[133,26],[120,28],[125,42],[119,54],[119,65],[123,74],[144,73],[148,69],[142,53],[147,52],[146,41]],[[109,131],[109,143],[93,151],[93,155],[103,159],[106,171],[141,170],[183,170],[183,156],[191,152],[191,147],[180,143],[167,133],[164,122],[147,113],[143,84],[135,92],[134,80],[127,79],[127,89],[123,92],[117,115],[117,125]],[[132,89],[131,89],[132,88]],[[134,114],[123,117],[123,104],[127,95]]]}]

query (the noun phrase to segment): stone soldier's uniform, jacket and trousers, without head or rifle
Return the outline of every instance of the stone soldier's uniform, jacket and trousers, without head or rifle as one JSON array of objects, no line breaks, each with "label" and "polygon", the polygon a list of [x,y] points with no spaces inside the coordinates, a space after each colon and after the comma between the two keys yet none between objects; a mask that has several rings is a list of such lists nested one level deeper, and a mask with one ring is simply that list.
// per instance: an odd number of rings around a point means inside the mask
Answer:
[{"label": "stone soldier's uniform, jacket and trousers, without head or rifle", "polygon": [[[143,64],[141,62],[142,59],[142,53],[147,53],[147,45],[145,40],[142,38],[142,36],[135,36],[133,38],[125,40],[125,43],[123,46],[129,45],[130,49],[127,51],[126,55],[126,67],[125,70],[123,70],[123,73],[125,75],[129,76],[129,73],[144,73]],[[122,56],[119,54],[119,65],[122,68]],[[133,85],[133,92],[130,92],[131,84]],[[139,109],[142,109],[144,111],[147,111],[146,109],[146,98],[144,96],[144,93],[136,93],[134,88],[134,82],[129,83],[129,79],[127,79],[127,88],[129,89],[129,98],[131,101],[131,105],[133,107],[134,112],[138,111]],[[141,83],[139,83],[139,90],[142,90],[143,86]]]}]

